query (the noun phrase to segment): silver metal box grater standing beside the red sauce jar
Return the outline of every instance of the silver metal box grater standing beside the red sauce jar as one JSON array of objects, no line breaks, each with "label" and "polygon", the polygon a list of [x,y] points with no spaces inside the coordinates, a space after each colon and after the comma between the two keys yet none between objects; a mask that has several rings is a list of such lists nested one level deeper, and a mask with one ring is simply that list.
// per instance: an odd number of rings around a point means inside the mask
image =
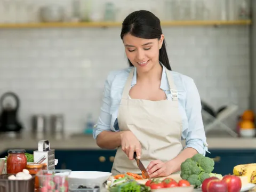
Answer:
[{"label": "silver metal box grater standing beside the red sauce jar", "polygon": [[38,142],[38,150],[34,151],[34,163],[44,164],[43,169],[54,170],[55,164],[55,150],[50,149],[50,142],[48,140],[41,140]]}]

